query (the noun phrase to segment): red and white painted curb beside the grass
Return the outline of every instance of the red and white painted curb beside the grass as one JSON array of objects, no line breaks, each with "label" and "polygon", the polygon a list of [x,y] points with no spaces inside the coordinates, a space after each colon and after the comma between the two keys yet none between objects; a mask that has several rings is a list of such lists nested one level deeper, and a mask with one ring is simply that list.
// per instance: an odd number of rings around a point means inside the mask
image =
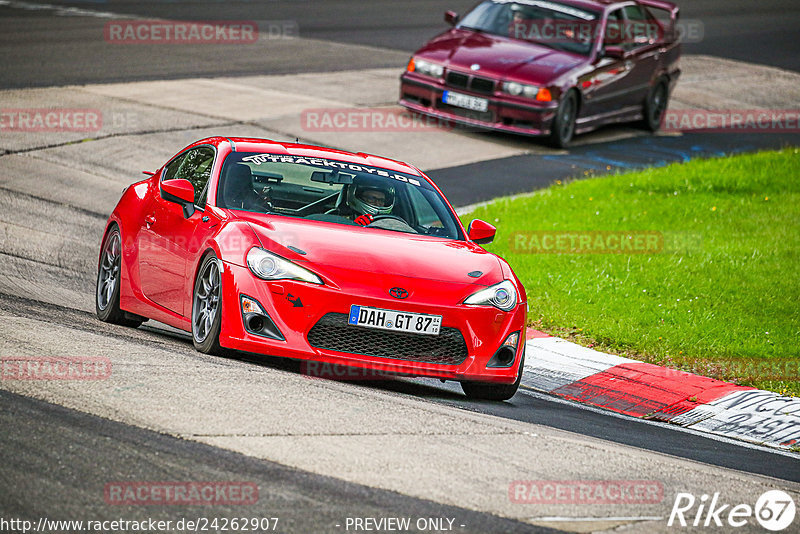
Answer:
[{"label": "red and white painted curb beside the grass", "polygon": [[524,384],[614,412],[790,449],[800,398],[643,363],[528,330]]}]

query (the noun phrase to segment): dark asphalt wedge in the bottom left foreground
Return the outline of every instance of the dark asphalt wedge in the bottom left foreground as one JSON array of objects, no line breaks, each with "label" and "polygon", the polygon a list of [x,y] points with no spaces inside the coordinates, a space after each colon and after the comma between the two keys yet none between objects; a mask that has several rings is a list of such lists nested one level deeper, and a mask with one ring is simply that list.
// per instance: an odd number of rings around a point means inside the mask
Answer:
[{"label": "dark asphalt wedge in the bottom left foreground", "polygon": [[[0,426],[14,428],[0,433],[4,466],[0,481],[6,488],[0,493],[0,511],[6,518],[176,521],[179,515],[220,520],[258,517],[279,518],[278,532],[336,532],[344,530],[348,517],[413,516],[454,519],[459,532],[556,532],[312,475],[2,390],[0,408]],[[19,425],[20,421],[25,424]],[[59,446],[31,446],[54,442]],[[100,473],[107,478],[99,478]],[[213,514],[204,506],[182,506],[180,514],[164,506],[105,506],[105,480],[131,477],[248,481],[258,486],[258,501],[247,506],[215,506]],[[11,487],[17,491],[8,491]]]}]

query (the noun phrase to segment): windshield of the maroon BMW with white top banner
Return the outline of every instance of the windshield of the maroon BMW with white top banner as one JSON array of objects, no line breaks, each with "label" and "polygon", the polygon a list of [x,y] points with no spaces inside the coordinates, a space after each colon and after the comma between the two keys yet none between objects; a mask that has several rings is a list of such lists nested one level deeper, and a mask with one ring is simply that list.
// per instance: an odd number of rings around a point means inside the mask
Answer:
[{"label": "windshield of the maroon BMW with white top banner", "polygon": [[588,56],[599,20],[597,12],[548,0],[491,0],[465,15],[458,27]]}]

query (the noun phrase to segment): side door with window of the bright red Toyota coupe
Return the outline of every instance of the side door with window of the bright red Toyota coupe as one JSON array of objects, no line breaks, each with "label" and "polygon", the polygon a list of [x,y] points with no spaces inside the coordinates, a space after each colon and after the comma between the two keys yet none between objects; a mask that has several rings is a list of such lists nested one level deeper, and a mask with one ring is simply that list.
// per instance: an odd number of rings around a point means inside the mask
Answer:
[{"label": "side door with window of the bright red Toyota coupe", "polygon": [[142,292],[154,303],[182,316],[187,313],[184,309],[187,251],[194,246],[196,227],[204,216],[204,195],[215,153],[211,146],[192,148],[169,162],[161,174],[161,182],[189,180],[195,188],[195,205],[199,210],[186,218],[180,204],[155,192],[140,232]]}]

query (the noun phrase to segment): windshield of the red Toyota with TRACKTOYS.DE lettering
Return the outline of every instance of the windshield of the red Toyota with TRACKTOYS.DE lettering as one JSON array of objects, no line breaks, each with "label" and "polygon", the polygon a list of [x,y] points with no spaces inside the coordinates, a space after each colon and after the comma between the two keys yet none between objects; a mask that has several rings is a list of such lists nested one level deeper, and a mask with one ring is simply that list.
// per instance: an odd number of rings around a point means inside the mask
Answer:
[{"label": "windshield of the red Toyota with TRACKTOYS.DE lettering", "polygon": [[[463,239],[455,215],[425,179],[332,159],[232,152],[217,206]],[[364,215],[368,221],[356,221]]]}]

